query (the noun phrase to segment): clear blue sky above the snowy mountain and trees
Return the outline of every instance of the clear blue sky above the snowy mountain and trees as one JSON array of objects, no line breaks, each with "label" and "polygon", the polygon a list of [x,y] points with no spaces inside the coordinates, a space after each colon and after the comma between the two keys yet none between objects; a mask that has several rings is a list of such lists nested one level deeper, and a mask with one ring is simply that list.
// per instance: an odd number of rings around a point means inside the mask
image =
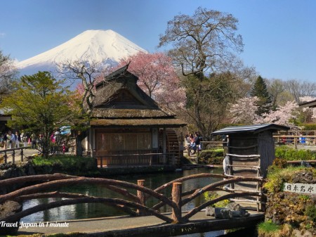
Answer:
[{"label": "clear blue sky above the snowy mountain and trees", "polygon": [[25,60],[85,30],[114,30],[153,53],[175,15],[199,6],[231,13],[244,39],[239,55],[262,77],[315,81],[313,0],[0,0],[0,50]]}]

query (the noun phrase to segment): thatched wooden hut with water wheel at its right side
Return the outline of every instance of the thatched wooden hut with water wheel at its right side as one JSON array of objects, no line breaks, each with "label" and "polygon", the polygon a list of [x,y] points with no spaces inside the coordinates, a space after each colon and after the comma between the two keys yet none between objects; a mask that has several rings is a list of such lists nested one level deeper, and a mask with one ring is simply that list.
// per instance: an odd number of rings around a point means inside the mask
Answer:
[{"label": "thatched wooden hut with water wheel at its right side", "polygon": [[127,69],[96,85],[87,150],[100,166],[178,163],[180,143],[174,129],[185,122],[147,96]]}]

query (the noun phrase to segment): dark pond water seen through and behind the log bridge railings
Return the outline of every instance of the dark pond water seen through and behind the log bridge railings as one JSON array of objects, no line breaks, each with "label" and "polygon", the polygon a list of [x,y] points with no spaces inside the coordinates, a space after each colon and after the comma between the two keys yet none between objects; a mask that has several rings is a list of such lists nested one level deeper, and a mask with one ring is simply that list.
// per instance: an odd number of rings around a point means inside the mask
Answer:
[{"label": "dark pond water seen through and behind the log bridge railings", "polygon": [[[223,169],[221,168],[196,168],[196,169],[187,169],[181,170],[178,172],[166,172],[166,173],[155,173],[155,174],[134,174],[129,176],[117,176],[110,177],[110,179],[118,179],[121,181],[129,181],[133,184],[137,184],[138,179],[145,179],[145,186],[147,188],[157,188],[162,184],[166,184],[173,179],[178,179],[180,177],[185,177],[191,174],[199,174],[199,173],[213,173],[213,174],[221,174],[223,173]],[[183,182],[183,191],[190,191],[193,188],[202,188],[210,183],[218,181],[216,178],[201,178],[201,179],[193,179],[187,180]],[[99,197],[107,197],[107,198],[121,198],[119,194],[114,193],[113,191],[108,190],[104,186],[100,185],[76,185],[76,186],[67,186],[60,188],[62,192],[68,193],[82,193],[89,196],[99,196]],[[170,196],[171,188],[165,191],[165,195]],[[136,194],[136,191],[135,191]],[[37,200],[28,200],[23,203],[23,209],[27,209],[34,205],[49,203],[53,200],[58,200],[58,198],[43,198]],[[147,200],[147,204],[152,206],[157,203],[157,200],[149,199]],[[195,200],[192,200],[191,203],[187,203],[184,207],[184,210],[191,210],[193,207],[199,205],[200,203],[204,203],[203,196],[199,196]],[[161,212],[170,212],[171,210],[163,207]],[[87,218],[96,218],[96,217],[111,217],[118,215],[125,215],[126,213],[120,212],[114,207],[109,207],[107,205],[103,205],[101,203],[85,203],[78,205],[68,205],[63,207],[53,208],[51,210],[46,210],[44,212],[37,212],[35,214],[29,215],[21,219],[23,222],[52,222],[52,221],[65,221],[70,219],[87,219]],[[207,233],[195,233],[188,234],[185,237],[215,237],[223,235],[224,231],[211,231]],[[244,236],[247,237],[247,236]]]}]

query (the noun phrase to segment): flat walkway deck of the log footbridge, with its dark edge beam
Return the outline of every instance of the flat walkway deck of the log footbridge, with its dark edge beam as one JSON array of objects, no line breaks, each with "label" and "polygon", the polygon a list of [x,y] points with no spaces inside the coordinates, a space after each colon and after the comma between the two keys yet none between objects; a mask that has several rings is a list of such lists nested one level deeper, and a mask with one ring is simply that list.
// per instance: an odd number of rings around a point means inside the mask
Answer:
[{"label": "flat walkway deck of the log footbridge, with its dark edge beam", "polygon": [[[206,216],[205,212],[199,212],[185,224],[166,224],[154,216],[146,217],[107,217],[98,219],[83,219],[58,222],[67,225],[67,227],[53,227],[51,223],[40,227],[23,227],[18,231],[19,235],[31,233],[88,233],[86,236],[170,236],[183,235],[187,233],[201,233],[206,231],[218,231],[221,229],[232,229],[237,227],[254,227],[259,222],[263,222],[263,212],[252,212],[249,217],[238,217],[234,219],[214,219]],[[47,224],[47,226],[46,226]]]}]

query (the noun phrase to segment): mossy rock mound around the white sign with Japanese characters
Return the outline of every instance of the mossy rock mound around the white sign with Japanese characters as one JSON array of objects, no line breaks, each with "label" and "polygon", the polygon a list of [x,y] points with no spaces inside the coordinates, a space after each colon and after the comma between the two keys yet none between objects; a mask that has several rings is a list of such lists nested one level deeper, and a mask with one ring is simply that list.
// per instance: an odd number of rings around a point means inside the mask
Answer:
[{"label": "mossy rock mound around the white sign with Japanese characters", "polygon": [[[279,177],[282,182],[291,184],[316,184],[315,169],[302,169],[289,177]],[[272,221],[279,226],[291,229],[291,236],[316,236],[316,195],[310,193],[293,193],[284,191],[270,191],[267,195],[268,203],[265,220]],[[289,236],[289,231],[284,236]],[[268,236],[268,235],[265,235]],[[278,233],[282,235],[282,230]]]}]

